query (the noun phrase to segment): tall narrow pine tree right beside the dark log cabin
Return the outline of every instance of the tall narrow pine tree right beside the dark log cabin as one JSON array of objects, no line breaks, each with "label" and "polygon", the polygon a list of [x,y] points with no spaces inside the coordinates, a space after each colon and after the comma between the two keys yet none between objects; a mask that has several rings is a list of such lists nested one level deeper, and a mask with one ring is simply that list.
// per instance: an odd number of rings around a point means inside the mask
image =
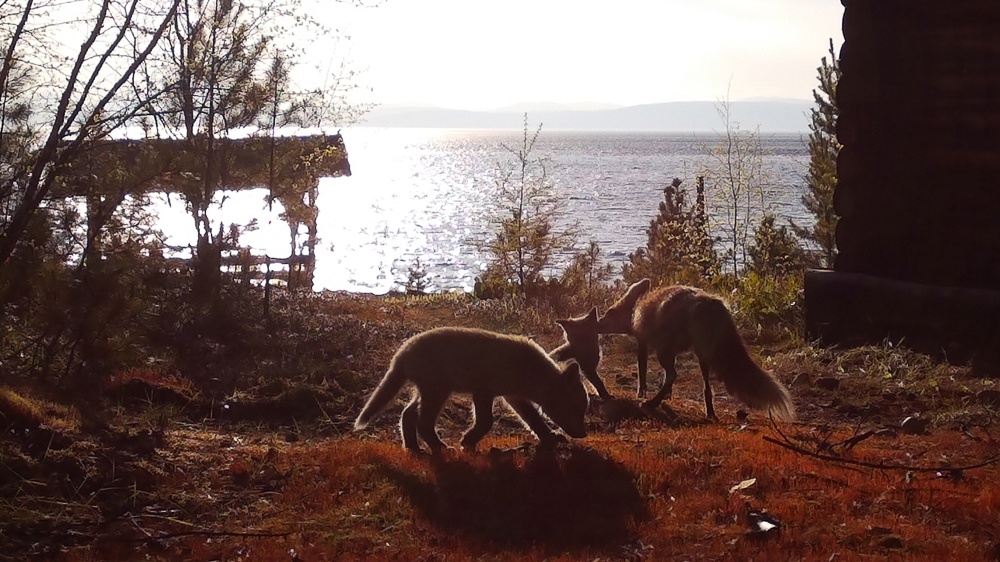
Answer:
[{"label": "tall narrow pine tree right beside the dark log cabin", "polygon": [[837,187],[837,83],[840,81],[840,61],[830,40],[830,61],[822,58],[819,74],[819,90],[813,90],[816,107],[812,110],[809,129],[809,176],[808,192],[802,196],[802,204],[816,217],[812,227],[800,227],[793,223],[792,229],[805,240],[819,248],[820,261],[825,267],[833,267],[837,257],[837,214],[833,208],[833,191]]}]

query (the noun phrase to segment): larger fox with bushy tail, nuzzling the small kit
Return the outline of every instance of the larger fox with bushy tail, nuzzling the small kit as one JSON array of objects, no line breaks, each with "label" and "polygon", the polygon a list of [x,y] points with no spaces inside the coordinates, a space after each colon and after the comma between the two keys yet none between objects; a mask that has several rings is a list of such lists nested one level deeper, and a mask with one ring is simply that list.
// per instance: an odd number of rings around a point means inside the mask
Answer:
[{"label": "larger fox with bushy tail, nuzzling the small kit", "polygon": [[794,417],[788,389],[750,357],[736,323],[719,297],[695,287],[672,285],[647,293],[648,279],[635,283],[598,319],[602,334],[631,334],[638,343],[638,396],[646,395],[649,348],[665,370],[663,386],[643,405],[656,407],[671,395],[679,353],[692,350],[705,380],[705,413],[717,419],[712,404],[709,373],[726,390],[751,408],[766,410],[776,419]]}]

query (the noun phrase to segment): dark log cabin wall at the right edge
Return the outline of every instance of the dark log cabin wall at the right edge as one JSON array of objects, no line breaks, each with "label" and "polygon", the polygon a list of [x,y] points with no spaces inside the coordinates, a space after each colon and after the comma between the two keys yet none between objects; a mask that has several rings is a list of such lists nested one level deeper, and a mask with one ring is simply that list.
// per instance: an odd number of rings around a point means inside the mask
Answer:
[{"label": "dark log cabin wall at the right edge", "polygon": [[1000,2],[842,0],[838,256],[806,329],[1000,358]]}]

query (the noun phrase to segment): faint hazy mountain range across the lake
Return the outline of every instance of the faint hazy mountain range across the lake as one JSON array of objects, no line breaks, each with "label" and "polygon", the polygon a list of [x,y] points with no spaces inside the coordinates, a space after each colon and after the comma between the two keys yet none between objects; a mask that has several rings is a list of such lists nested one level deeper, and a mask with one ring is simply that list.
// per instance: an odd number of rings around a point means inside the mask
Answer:
[{"label": "faint hazy mountain range across the lake", "polygon": [[[568,109],[566,109],[568,107]],[[518,104],[497,111],[463,111],[432,107],[380,106],[365,116],[365,127],[423,127],[449,129],[520,129],[524,113],[529,126],[541,123],[546,131],[721,131],[719,104],[690,101],[579,109],[560,104]],[[812,102],[805,100],[751,100],[730,102],[730,120],[743,130],[767,132],[809,130]],[[534,110],[533,110],[534,109]]]}]

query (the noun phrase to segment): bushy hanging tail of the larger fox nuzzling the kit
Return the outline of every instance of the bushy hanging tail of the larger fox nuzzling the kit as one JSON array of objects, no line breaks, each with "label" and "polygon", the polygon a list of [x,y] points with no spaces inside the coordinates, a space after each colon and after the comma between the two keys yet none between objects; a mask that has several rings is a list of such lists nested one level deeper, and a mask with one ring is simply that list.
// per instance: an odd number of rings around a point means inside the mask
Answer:
[{"label": "bushy hanging tail of the larger fox nuzzling the kit", "polygon": [[754,363],[722,301],[713,298],[699,302],[691,328],[698,357],[708,363],[729,394],[751,408],[766,410],[777,420],[794,419],[788,389]]}]

